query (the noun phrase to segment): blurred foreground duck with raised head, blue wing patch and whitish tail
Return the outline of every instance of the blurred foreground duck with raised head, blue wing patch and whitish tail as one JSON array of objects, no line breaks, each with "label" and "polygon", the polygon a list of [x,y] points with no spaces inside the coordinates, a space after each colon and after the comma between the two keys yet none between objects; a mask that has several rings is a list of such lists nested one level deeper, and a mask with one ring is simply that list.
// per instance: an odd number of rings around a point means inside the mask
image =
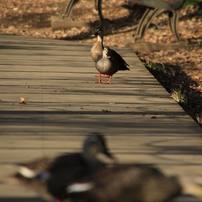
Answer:
[{"label": "blurred foreground duck with raised head, blue wing patch and whitish tail", "polygon": [[55,158],[44,157],[20,164],[18,172],[12,178],[45,198],[62,200],[68,183],[105,167],[106,164],[98,158],[100,154],[113,159],[104,137],[101,134],[92,134],[84,141],[81,153],[64,154]]}]

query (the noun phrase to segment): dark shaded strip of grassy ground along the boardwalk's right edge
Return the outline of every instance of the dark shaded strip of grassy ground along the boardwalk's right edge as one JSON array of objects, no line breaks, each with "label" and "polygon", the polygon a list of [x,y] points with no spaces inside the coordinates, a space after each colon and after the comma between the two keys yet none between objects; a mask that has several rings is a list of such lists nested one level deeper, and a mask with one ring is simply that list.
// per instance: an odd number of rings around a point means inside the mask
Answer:
[{"label": "dark shaded strip of grassy ground along the boardwalk's right edge", "polygon": [[192,88],[197,84],[178,66],[151,61],[143,63],[171,97],[202,127],[202,97]]}]

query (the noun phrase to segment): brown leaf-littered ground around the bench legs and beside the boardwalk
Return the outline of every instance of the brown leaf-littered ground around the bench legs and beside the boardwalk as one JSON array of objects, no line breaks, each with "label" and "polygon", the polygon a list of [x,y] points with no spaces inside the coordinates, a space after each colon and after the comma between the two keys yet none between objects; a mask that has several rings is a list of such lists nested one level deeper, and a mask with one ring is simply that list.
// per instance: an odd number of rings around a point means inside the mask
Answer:
[{"label": "brown leaf-littered ground around the bench legs and beside the boardwalk", "polygon": [[[64,0],[1,0],[0,34],[15,34],[40,38],[75,40],[80,43],[94,43],[93,28],[100,25],[94,1],[82,0],[74,8],[71,19],[83,20],[89,27],[68,30],[51,29],[51,16],[64,13],[68,1]],[[124,0],[105,0],[102,3],[105,25],[105,46],[124,47],[133,41],[144,7],[133,9],[123,7]],[[154,20],[144,36],[145,42],[174,43],[167,15]],[[139,58],[149,71],[192,118],[202,125],[202,9],[197,6],[183,8],[179,20],[179,33],[183,41],[194,41],[196,47],[179,48],[159,52],[140,50]]]}]

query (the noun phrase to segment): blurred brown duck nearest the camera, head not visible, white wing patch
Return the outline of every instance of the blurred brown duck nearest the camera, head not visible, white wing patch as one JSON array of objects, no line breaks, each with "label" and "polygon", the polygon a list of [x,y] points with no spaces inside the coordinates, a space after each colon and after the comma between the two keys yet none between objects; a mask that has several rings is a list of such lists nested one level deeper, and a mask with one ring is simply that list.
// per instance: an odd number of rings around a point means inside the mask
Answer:
[{"label": "blurred brown duck nearest the camera, head not visible, white wing patch", "polygon": [[[165,202],[183,193],[202,197],[202,181],[167,177],[144,165],[106,167],[66,189],[71,202]],[[193,179],[192,179],[193,180]]]}]

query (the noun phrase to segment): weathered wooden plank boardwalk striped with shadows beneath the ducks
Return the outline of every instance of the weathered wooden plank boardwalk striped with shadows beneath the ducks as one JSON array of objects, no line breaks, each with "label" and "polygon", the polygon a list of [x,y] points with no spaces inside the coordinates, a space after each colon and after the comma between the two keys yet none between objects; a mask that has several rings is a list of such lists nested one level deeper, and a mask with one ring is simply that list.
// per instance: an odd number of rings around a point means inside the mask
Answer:
[{"label": "weathered wooden plank boardwalk striped with shadows beneath the ducks", "polygon": [[[168,174],[202,174],[201,128],[135,53],[115,48],[131,70],[105,85],[96,83],[90,48],[0,35],[0,177],[17,162],[78,151],[90,132],[106,135],[120,162],[152,163]],[[21,97],[26,104],[19,104]],[[3,201],[41,200],[0,184]]]}]

